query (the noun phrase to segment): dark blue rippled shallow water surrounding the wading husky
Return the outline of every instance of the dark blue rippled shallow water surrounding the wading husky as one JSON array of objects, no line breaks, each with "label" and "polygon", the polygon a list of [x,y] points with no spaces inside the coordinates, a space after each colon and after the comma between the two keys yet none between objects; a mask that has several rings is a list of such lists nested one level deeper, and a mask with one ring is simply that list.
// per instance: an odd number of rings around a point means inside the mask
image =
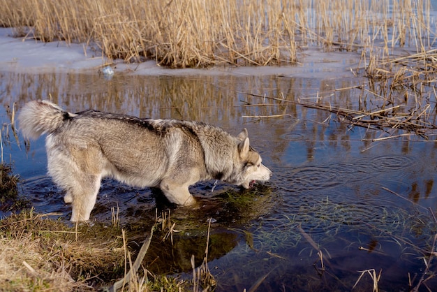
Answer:
[{"label": "dark blue rippled shallow water surrounding the wading husky", "polygon": [[[272,180],[250,191],[219,182],[211,192],[214,182],[196,184],[191,192],[202,208],[172,208],[175,229],[182,232],[175,233],[173,246],[154,242],[143,264],[152,272],[192,277],[191,255],[201,263],[207,221],[213,218],[209,268],[216,291],[350,291],[360,277],[357,271],[368,269],[382,270],[381,291],[407,290],[408,275],[413,286],[422,276],[422,257],[437,233],[428,210],[437,210],[437,143],[414,137],[372,142],[384,133],[351,128],[329,112],[260,97],[358,107],[360,90],[335,89],[366,80],[332,73],[302,78],[289,70],[280,75],[116,74],[111,80],[91,73],[0,73],[3,160],[13,161],[24,179],[21,193],[36,212],[61,212],[68,219],[71,210],[62,191],[45,174],[44,139],[27,147],[8,126],[13,103],[20,110],[27,101],[51,96],[71,112],[93,108],[195,119],[234,134],[247,128],[251,144],[274,173]],[[369,103],[376,107],[378,101]],[[272,115],[283,116],[253,117]],[[156,207],[168,207],[159,197],[105,180],[91,220],[110,224],[111,208],[119,206],[121,225],[135,231],[132,242],[140,242]],[[431,271],[436,272],[434,265]],[[436,286],[436,279],[427,285]],[[371,287],[364,275],[355,289]]]}]

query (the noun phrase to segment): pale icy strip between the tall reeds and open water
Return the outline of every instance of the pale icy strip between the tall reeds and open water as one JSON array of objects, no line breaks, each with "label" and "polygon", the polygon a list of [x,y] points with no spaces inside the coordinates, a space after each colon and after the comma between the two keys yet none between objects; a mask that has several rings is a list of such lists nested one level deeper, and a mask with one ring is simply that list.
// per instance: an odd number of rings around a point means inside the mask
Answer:
[{"label": "pale icy strip between the tall reeds and open water", "polygon": [[112,66],[114,73],[133,75],[283,75],[283,77],[344,78],[353,77],[357,52],[323,52],[307,48],[298,64],[286,66],[213,66],[209,68],[167,68],[155,61],[126,64],[122,59],[110,61],[96,56],[96,50],[84,43],[65,41],[43,43],[11,36],[11,28],[0,28],[0,71],[16,73],[99,73]]}]

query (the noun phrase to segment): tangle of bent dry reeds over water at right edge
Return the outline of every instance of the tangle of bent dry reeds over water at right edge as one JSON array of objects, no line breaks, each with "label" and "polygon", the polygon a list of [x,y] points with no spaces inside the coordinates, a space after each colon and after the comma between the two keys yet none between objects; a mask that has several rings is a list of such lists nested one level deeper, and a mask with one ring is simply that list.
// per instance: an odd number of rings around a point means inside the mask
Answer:
[{"label": "tangle of bent dry reeds over water at right edge", "polygon": [[353,125],[401,129],[425,139],[436,136],[437,50],[422,47],[404,57],[370,52],[362,59],[369,84],[361,87],[360,103],[369,98],[378,108],[366,112],[339,109],[339,115]]}]

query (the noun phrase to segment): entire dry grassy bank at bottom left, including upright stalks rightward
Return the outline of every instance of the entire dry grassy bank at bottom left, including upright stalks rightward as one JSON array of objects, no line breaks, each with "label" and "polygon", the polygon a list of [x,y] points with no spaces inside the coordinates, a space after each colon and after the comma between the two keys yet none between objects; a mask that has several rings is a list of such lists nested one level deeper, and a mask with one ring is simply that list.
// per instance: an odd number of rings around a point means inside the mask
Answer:
[{"label": "entire dry grassy bank at bottom left, including upright stalks rightward", "polygon": [[[51,215],[57,214],[30,211],[0,220],[1,291],[214,290],[214,277],[207,268],[208,243],[204,263],[193,267],[193,282],[184,281],[153,275],[145,268],[138,271],[153,232],[133,263],[128,236],[119,228],[100,224],[68,227],[50,219]],[[172,238],[175,224],[170,222],[170,214],[158,220],[163,229],[155,224],[152,231],[156,228],[163,240]],[[121,280],[115,282],[117,279]]]}]

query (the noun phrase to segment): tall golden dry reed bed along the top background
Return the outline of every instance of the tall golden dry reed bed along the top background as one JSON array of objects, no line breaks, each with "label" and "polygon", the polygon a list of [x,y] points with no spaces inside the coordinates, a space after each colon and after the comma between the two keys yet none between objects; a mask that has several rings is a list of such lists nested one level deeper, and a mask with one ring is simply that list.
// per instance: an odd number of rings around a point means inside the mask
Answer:
[{"label": "tall golden dry reed bed along the top background", "polygon": [[0,26],[44,42],[96,45],[126,62],[264,66],[295,63],[309,45],[429,50],[430,11],[430,0],[0,0]]}]

